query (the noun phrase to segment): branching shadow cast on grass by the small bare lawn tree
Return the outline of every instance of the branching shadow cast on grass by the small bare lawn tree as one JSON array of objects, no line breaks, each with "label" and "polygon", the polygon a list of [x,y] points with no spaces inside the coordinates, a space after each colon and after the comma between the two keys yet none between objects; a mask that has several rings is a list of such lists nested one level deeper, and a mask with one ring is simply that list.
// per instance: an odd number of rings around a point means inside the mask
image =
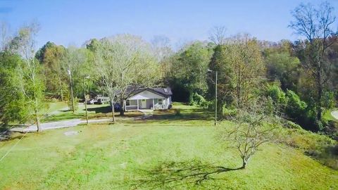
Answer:
[{"label": "branching shadow cast on grass by the small bare lawn tree", "polygon": [[[201,186],[202,183],[207,180],[218,180],[216,176],[220,173],[242,169],[242,167],[228,168],[215,166],[209,163],[201,163],[201,161],[198,160],[179,163],[161,163],[151,170],[139,170],[139,175],[143,178],[139,179],[135,184],[133,184],[133,186],[136,189],[161,189],[163,187],[173,188],[175,186],[187,184]],[[217,189],[218,186],[213,187]]]}]

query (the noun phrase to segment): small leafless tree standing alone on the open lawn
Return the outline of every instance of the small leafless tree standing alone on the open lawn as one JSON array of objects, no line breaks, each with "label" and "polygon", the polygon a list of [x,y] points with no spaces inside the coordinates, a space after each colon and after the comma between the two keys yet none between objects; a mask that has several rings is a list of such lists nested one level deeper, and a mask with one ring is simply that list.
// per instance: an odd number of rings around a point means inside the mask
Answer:
[{"label": "small leafless tree standing alone on the open lawn", "polygon": [[232,118],[234,126],[226,129],[223,137],[239,151],[242,168],[262,144],[278,139],[276,134],[280,119],[269,105],[272,104],[263,99],[251,101],[250,106],[242,107]]}]

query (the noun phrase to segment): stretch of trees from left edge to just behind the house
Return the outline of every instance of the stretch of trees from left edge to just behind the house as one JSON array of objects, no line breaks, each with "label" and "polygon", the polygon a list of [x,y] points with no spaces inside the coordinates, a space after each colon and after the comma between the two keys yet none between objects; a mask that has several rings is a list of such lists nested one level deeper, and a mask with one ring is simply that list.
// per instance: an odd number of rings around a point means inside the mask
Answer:
[{"label": "stretch of trees from left edge to just behind the house", "polygon": [[[6,29],[6,25],[2,27]],[[41,110],[49,99],[68,101],[74,111],[78,99],[84,99],[89,91],[110,98],[115,121],[114,104],[122,105],[123,115],[127,87],[161,84],[154,46],[141,37],[120,34],[91,39],[81,48],[47,42],[35,52],[38,30],[39,25],[32,23],[3,40],[0,120],[4,126],[30,122],[37,124],[40,131],[39,120],[44,117]]]}]

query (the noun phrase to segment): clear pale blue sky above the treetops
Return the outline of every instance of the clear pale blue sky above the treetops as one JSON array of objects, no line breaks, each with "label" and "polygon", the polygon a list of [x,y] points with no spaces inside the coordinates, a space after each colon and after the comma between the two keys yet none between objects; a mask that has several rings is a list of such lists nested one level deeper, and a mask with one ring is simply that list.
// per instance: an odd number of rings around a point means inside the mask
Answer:
[{"label": "clear pale blue sky above the treetops", "polygon": [[[48,41],[81,46],[92,38],[130,33],[151,40],[168,37],[177,46],[184,42],[208,39],[211,27],[225,25],[227,34],[248,32],[270,41],[296,39],[287,25],[290,11],[301,2],[318,0],[256,1],[89,1],[89,0],[0,0],[0,20],[11,32],[37,20],[41,30],[37,45]],[[338,9],[338,0],[329,1]],[[335,10],[338,16],[338,11]]]}]

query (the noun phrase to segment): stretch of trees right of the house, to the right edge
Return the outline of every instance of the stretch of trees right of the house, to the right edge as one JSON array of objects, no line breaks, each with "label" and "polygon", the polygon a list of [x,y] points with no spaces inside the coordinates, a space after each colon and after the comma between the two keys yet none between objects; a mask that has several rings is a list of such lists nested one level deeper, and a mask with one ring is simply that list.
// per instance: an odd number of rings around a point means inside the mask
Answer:
[{"label": "stretch of trees right of the house, to the right edge", "polygon": [[[337,137],[337,122],[323,117],[337,107],[337,27],[333,8],[300,4],[289,27],[291,42],[267,42],[215,27],[210,41],[193,42],[170,56],[166,84],[177,101],[213,109],[218,71],[218,113],[231,116],[265,97],[286,120]],[[332,132],[333,131],[333,132]]]}]

